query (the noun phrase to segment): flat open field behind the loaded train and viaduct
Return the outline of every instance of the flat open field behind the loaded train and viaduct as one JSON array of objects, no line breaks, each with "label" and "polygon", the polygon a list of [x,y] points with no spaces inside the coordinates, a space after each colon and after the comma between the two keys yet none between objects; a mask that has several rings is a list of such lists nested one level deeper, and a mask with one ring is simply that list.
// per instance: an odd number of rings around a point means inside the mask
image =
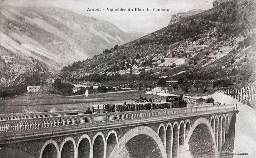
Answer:
[{"label": "flat open field behind the loaded train and viaduct", "polygon": [[139,98],[140,95],[155,98],[155,100],[165,100],[164,97],[145,94],[145,91],[98,93],[89,94],[88,97],[85,95],[73,97],[47,95],[36,100],[32,100],[29,94],[24,94],[13,99],[0,100],[0,114],[83,110],[92,104],[134,103],[133,99]]}]

